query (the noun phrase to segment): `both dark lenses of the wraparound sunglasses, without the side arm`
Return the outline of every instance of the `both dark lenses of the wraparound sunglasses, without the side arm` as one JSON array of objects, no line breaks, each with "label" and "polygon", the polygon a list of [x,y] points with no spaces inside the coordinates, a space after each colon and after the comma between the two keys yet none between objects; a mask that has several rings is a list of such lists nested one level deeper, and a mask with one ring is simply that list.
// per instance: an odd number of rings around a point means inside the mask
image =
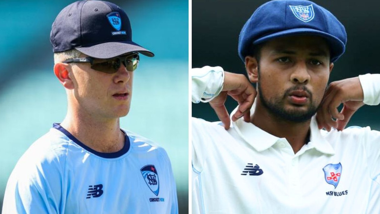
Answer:
[{"label": "both dark lenses of the wraparound sunglasses, without the side arm", "polygon": [[104,62],[94,62],[91,66],[93,70],[101,71],[103,73],[113,74],[120,68],[120,59],[124,60],[123,64],[128,71],[136,70],[139,64],[139,55],[133,54],[127,56],[123,59],[123,57],[118,57],[114,59],[109,59]]}]

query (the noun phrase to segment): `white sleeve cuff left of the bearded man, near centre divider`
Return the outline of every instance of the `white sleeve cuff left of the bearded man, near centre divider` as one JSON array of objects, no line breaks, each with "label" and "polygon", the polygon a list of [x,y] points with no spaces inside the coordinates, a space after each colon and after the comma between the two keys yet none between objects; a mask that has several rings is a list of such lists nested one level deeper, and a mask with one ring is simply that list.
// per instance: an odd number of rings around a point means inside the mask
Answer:
[{"label": "white sleeve cuff left of the bearded man, near centre divider", "polygon": [[207,103],[220,94],[224,82],[222,67],[192,68],[191,72],[193,103]]}]

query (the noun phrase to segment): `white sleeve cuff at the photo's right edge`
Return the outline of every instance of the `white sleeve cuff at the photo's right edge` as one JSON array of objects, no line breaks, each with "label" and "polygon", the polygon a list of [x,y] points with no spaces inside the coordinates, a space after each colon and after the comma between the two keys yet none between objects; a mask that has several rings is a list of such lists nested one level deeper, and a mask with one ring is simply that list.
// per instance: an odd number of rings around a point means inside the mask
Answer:
[{"label": "white sleeve cuff at the photo's right edge", "polygon": [[379,105],[380,103],[380,74],[359,75],[363,88],[364,104]]}]

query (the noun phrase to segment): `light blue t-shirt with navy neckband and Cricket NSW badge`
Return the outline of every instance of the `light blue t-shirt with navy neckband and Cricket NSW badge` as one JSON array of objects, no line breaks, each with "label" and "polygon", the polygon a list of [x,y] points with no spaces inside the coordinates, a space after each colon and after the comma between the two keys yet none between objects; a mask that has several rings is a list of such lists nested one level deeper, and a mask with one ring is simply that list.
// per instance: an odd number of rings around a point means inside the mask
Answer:
[{"label": "light blue t-shirt with navy neckband and Cricket NSW badge", "polygon": [[176,214],[176,185],[165,150],[124,131],[125,145],[96,152],[54,124],[17,162],[3,214]]}]

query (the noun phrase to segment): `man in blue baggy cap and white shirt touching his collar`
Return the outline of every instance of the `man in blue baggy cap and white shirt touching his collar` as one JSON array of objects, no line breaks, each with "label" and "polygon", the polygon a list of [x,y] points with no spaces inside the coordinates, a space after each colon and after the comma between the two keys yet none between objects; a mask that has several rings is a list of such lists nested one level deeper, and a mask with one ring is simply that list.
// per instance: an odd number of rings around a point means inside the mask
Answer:
[{"label": "man in blue baggy cap and white shirt touching his collar", "polygon": [[[192,69],[192,101],[209,102],[222,121],[192,119],[193,213],[380,212],[380,132],[344,129],[358,108],[380,103],[380,75],[326,88],[346,42],[325,8],[274,0],[239,36],[248,79]],[[231,118],[227,95],[239,103]]]}]

